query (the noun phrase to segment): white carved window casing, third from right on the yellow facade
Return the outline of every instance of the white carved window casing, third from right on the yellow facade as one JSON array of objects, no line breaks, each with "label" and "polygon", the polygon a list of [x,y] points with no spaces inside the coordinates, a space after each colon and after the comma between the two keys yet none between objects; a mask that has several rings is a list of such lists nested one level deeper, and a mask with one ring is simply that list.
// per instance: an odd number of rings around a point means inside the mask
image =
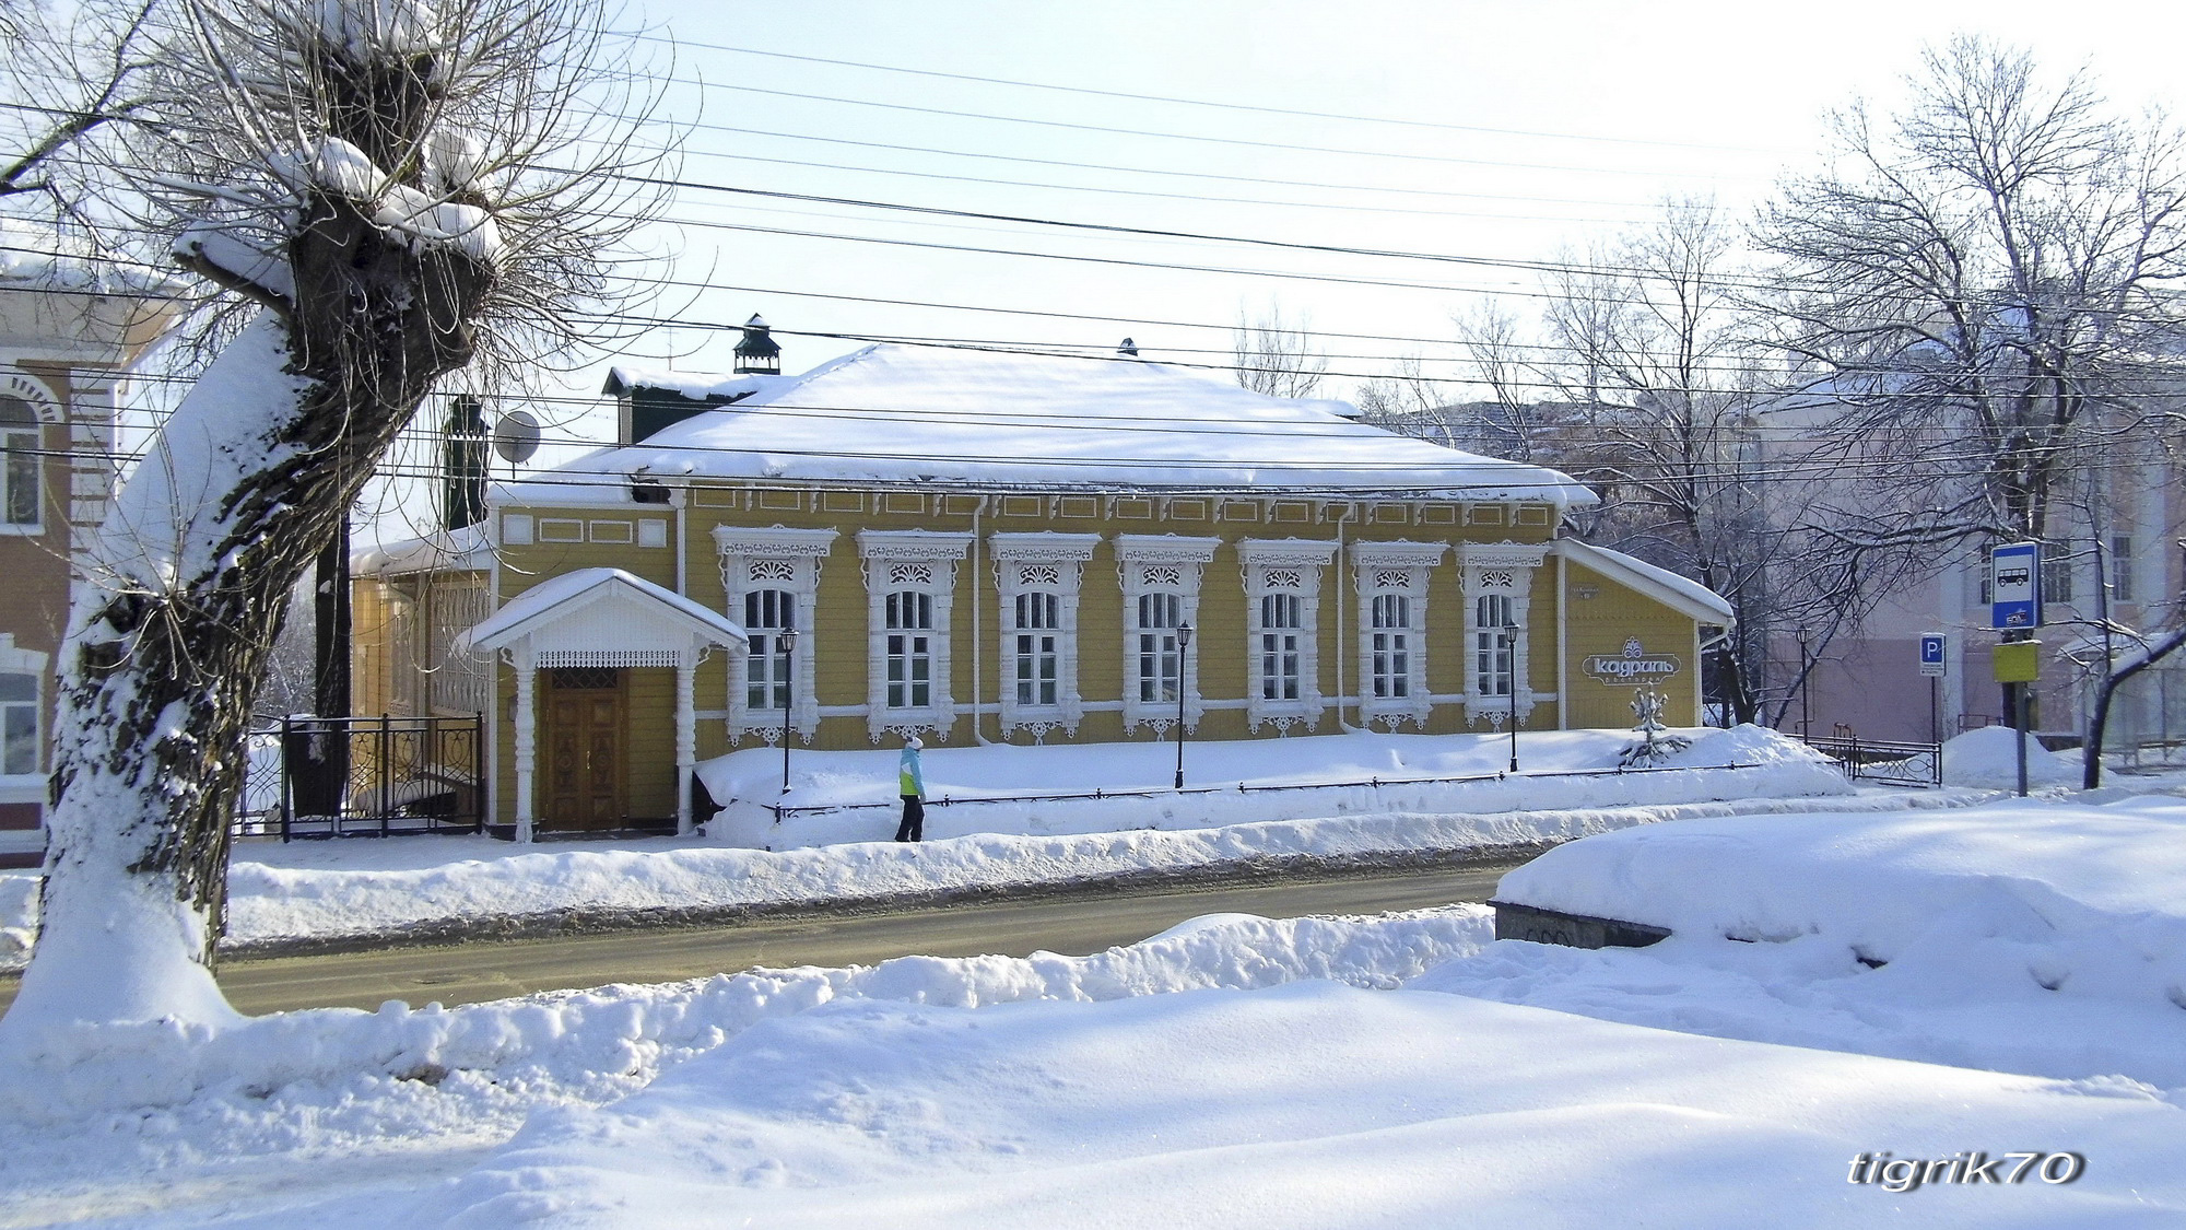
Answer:
[{"label": "white carved window casing, third from right on the yellow facade", "polygon": [[1246,538],[1237,543],[1246,591],[1246,727],[1312,729],[1320,696],[1320,569],[1336,543]]}]

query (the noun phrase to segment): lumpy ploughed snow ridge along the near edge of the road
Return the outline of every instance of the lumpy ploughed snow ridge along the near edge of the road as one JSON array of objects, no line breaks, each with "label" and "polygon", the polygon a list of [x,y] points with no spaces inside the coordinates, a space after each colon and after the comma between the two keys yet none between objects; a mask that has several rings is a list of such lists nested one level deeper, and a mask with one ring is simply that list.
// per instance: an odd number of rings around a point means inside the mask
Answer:
[{"label": "lumpy ploughed snow ridge along the near edge of the road", "polygon": [[[190,1110],[192,1123],[230,1114],[341,1121],[374,1132],[372,1116],[402,1123],[402,1083],[437,1088],[463,1116],[503,1118],[540,1101],[606,1101],[647,1086],[665,1068],[721,1046],[754,1024],[831,1000],[898,1000],[982,1007],[1019,1000],[1115,1000],[1198,987],[1272,987],[1336,978],[1395,987],[1484,943],[1480,906],[1382,919],[1259,919],[1237,915],[1093,956],[898,956],[842,970],[754,970],[658,987],[601,987],[411,1011],[387,1002],[293,1011],[208,1031],[175,1024],[48,1026],[17,1033],[0,1053],[0,1142],[22,1125],[114,1116],[133,1132],[151,1107]],[[435,1112],[439,1114],[439,1112]],[[324,1127],[324,1125],[321,1125]],[[505,1125],[514,1127],[512,1123]],[[282,1132],[295,1132],[286,1127]],[[289,1140],[293,1142],[293,1140]],[[208,1151],[221,1145],[205,1142]],[[269,1140],[234,1140],[262,1149]],[[286,1147],[286,1145],[282,1145]]]}]

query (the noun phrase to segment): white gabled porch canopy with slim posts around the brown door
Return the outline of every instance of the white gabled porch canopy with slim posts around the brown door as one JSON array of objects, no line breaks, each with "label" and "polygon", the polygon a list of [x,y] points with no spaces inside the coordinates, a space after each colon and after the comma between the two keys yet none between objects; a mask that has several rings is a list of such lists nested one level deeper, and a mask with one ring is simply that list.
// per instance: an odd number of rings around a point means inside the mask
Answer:
[{"label": "white gabled porch canopy with slim posts around the brown door", "polygon": [[516,840],[531,840],[538,799],[538,672],[675,668],[675,832],[691,832],[697,764],[697,663],[715,646],[743,650],[743,628],[623,569],[577,569],[518,593],[463,635],[461,648],[516,668]]}]

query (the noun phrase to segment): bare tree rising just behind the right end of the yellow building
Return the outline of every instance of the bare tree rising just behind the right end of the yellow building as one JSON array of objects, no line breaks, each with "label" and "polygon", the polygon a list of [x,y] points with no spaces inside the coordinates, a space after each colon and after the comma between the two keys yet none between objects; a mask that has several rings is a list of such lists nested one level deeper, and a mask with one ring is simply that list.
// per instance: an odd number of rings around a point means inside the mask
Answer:
[{"label": "bare tree rising just behind the right end of the yellow building", "polygon": [[[1860,569],[1801,547],[1808,449],[1768,427],[1788,374],[1755,339],[1738,241],[1712,201],[1672,201],[1655,225],[1563,260],[1546,309],[1561,355],[1543,376],[1585,416],[1565,464],[1602,492],[1589,536],[1738,608],[1709,692],[1751,722],[1771,698],[1771,635],[1847,630],[1871,593]],[[1777,720],[1795,685],[1775,687]]]}]

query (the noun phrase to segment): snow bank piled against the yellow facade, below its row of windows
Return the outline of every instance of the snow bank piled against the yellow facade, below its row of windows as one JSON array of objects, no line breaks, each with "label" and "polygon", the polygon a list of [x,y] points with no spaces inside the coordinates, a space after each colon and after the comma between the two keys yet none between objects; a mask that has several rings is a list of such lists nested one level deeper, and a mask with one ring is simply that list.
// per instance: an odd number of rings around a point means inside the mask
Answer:
[{"label": "snow bank piled against the yellow facade, below its row of windows", "polygon": [[[1694,746],[1668,764],[1688,773],[1615,773],[1618,753],[1635,738],[1631,731],[1519,735],[1519,775],[1504,773],[1508,735],[1194,742],[1185,749],[1183,792],[1170,790],[1174,744],[929,749],[927,836],[1204,829],[1342,814],[1539,812],[1852,792],[1843,773],[1775,731],[1683,733]],[[726,845],[761,849],[894,834],[896,751],[791,751],[789,764],[785,797],[776,749],[702,762],[700,779],[726,803],[706,832]]]}]

